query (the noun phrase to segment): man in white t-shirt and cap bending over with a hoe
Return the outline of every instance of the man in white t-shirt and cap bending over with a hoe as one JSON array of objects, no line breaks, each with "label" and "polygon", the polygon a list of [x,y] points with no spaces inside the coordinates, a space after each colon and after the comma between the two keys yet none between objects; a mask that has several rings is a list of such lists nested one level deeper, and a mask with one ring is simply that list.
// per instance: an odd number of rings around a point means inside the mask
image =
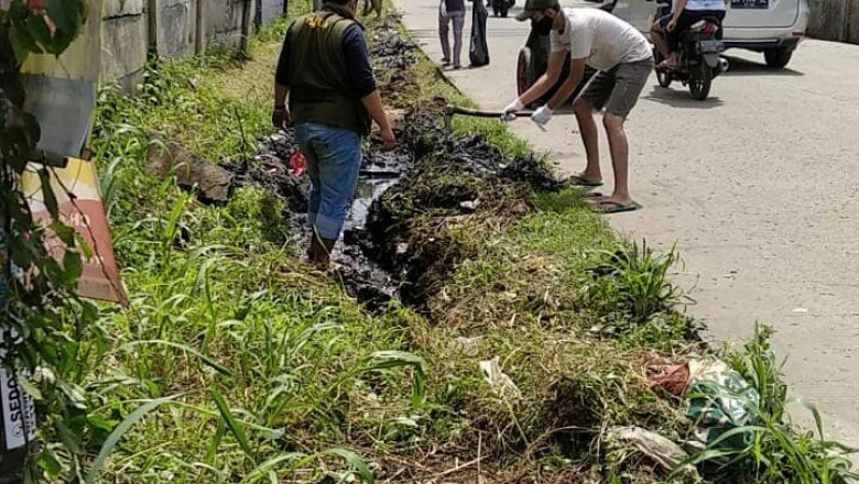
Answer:
[{"label": "man in white t-shirt and cap bending over with a hoe", "polygon": [[602,123],[611,148],[615,191],[610,197],[598,198],[596,207],[604,213],[641,208],[629,194],[629,143],[623,123],[653,70],[653,54],[646,38],[638,29],[608,12],[588,8],[562,10],[558,0],[528,0],[524,12],[517,19],[531,19],[533,29],[551,34],[552,52],[546,74],[504,108],[505,117],[521,111],[555,86],[567,56],[572,58],[569,77],[531,117],[537,124],[547,123],[552,111],[566,102],[584,78],[586,64],[599,70],[574,105],[587,167],[572,180],[588,187],[602,185],[594,111],[605,109]]}]

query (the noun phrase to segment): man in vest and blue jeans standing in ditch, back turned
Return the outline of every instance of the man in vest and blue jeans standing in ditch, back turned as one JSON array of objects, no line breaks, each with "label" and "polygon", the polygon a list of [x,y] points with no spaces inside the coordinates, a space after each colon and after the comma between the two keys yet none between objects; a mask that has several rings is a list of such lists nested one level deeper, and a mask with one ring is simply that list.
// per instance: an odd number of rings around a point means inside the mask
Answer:
[{"label": "man in vest and blue jeans standing in ditch, back turned", "polygon": [[[326,0],[319,12],[296,20],[283,42],[272,123],[295,123],[311,176],[307,222],[309,260],[327,266],[358,184],[361,138],[371,120],[384,150],[396,145],[370,66],[358,0]],[[286,96],[290,103],[286,107]]]}]

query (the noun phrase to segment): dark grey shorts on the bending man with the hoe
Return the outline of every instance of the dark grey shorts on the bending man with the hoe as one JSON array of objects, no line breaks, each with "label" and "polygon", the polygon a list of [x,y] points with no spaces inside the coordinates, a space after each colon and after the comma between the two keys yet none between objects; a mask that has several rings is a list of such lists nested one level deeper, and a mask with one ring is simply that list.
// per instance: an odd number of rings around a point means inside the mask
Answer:
[{"label": "dark grey shorts on the bending man with the hoe", "polygon": [[621,118],[629,116],[648,84],[653,59],[619,64],[611,70],[599,72],[585,88],[581,97],[597,111],[606,111]]}]

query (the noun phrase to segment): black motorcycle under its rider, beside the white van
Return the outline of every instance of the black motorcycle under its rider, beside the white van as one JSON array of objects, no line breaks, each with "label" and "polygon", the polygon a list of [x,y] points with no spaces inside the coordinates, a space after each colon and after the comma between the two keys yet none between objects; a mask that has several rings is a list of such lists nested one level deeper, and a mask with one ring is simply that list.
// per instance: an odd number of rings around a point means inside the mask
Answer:
[{"label": "black motorcycle under its rider, beside the white van", "polygon": [[[659,2],[655,19],[670,12],[671,3]],[[664,57],[654,47],[656,79],[664,88],[671,87],[674,80],[681,81],[688,86],[693,99],[703,101],[710,94],[713,79],[728,70],[728,61],[719,56],[722,52],[725,44],[721,42],[721,22],[716,18],[704,19],[681,35],[676,69],[659,67]]]}]

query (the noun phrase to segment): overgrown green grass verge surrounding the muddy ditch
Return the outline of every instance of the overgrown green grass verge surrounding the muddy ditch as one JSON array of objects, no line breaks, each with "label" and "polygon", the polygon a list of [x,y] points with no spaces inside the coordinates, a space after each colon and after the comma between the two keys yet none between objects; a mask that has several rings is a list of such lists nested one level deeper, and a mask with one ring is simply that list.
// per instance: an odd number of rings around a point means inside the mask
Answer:
[{"label": "overgrown green grass verge surrounding the muddy ditch", "polygon": [[[100,476],[428,481],[477,459],[443,475],[664,482],[640,460],[612,460],[601,437],[616,425],[673,439],[687,430],[678,403],[655,393],[643,371],[688,343],[692,322],[674,311],[682,300],[665,278],[674,255],[635,252],[574,190],[534,194],[449,174],[441,180],[448,189],[474,183],[494,210],[411,219],[416,234],[444,233],[461,257],[427,311],[394,301],[371,314],[298,261],[303,241],[276,196],[244,187],[225,206],[206,206],[174,178],[146,173],[153,132],[215,162],[255,150],[269,131],[285,25],[254,38],[250,61],[211,53],[153,64],[139,98],[100,97],[94,148],[131,297],[127,309],[104,308],[79,344],[85,454],[93,462],[105,450]],[[412,102],[470,106],[428,59],[411,75]],[[511,155],[529,152],[499,121],[457,118],[454,128],[485,133]],[[628,263],[595,282],[588,270],[611,264],[619,249]],[[521,397],[485,382],[478,362],[494,356]],[[758,361],[747,377],[761,375],[766,395],[781,392],[779,375],[766,373],[773,362]],[[51,474],[68,480],[73,457],[55,459]]]}]

